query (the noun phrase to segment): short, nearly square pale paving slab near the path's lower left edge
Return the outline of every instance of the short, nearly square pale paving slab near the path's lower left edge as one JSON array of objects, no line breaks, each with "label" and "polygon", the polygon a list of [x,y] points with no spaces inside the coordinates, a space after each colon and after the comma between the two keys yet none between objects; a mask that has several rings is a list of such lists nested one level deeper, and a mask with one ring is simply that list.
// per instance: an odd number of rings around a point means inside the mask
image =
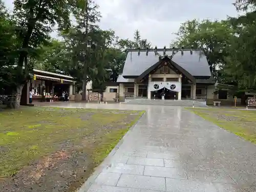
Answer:
[{"label": "short, nearly square pale paving slab near the path's lower left edge", "polygon": [[121,174],[117,173],[100,173],[96,178],[95,183],[98,185],[113,185],[115,186]]}]

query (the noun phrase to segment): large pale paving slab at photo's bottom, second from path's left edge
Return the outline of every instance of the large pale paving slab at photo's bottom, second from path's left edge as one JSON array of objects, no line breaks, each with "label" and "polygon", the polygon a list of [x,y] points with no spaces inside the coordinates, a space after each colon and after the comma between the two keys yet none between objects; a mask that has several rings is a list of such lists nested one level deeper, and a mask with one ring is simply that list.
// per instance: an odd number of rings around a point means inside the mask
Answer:
[{"label": "large pale paving slab at photo's bottom, second from path's left edge", "polygon": [[165,191],[165,178],[122,174],[117,186]]}]

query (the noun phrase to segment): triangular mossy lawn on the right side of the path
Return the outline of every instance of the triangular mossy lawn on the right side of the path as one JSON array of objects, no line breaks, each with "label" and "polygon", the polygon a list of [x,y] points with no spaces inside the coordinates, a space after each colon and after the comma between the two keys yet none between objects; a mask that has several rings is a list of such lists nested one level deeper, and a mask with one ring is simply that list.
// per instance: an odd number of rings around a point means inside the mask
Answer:
[{"label": "triangular mossy lawn on the right side of the path", "polygon": [[187,108],[245,140],[256,144],[256,111],[223,108]]}]

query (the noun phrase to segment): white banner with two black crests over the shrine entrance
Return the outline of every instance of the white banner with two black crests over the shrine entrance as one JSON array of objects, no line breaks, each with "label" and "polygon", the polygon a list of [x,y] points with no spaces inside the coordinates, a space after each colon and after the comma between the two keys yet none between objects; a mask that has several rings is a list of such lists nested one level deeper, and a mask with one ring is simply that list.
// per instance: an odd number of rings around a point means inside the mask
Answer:
[{"label": "white banner with two black crests over the shrine entrance", "polygon": [[180,92],[181,82],[170,81],[170,82],[148,82],[148,87],[150,91],[158,91],[166,88],[170,91]]}]

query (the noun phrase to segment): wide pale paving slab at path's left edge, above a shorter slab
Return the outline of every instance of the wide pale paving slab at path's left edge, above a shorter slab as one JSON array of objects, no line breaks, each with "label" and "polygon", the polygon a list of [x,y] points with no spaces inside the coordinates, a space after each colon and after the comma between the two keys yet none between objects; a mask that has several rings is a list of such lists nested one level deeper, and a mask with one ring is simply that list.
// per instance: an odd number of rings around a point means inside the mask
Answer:
[{"label": "wide pale paving slab at path's left edge, above a shorter slab", "polygon": [[107,165],[106,168],[103,169],[103,172],[143,175],[144,166],[114,163],[114,164]]}]

